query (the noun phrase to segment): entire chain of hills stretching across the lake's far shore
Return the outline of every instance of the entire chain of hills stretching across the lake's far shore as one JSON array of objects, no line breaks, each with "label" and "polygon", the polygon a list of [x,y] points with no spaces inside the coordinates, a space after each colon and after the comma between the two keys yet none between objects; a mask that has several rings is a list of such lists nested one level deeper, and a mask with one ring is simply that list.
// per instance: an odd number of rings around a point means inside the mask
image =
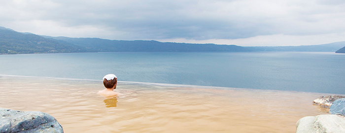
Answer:
[{"label": "entire chain of hills stretching across the lake's far shore", "polygon": [[[253,52],[309,51],[342,53],[345,41],[308,46],[242,47],[237,45],[159,42],[155,40],[108,40],[19,33],[0,27],[0,54],[70,52]],[[343,52],[345,48],[342,48]],[[344,52],[345,53],[345,52]]]}]

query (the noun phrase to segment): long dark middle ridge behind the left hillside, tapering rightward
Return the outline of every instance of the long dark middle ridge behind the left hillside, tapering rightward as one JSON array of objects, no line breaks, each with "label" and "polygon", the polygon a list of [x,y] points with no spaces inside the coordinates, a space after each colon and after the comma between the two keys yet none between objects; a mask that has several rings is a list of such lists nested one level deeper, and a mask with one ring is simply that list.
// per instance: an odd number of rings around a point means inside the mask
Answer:
[{"label": "long dark middle ridge behind the left hillside, tapering rightward", "polygon": [[[46,36],[50,37],[50,36]],[[103,52],[211,52],[251,51],[236,45],[159,42],[155,40],[108,40],[101,38],[51,37]]]}]

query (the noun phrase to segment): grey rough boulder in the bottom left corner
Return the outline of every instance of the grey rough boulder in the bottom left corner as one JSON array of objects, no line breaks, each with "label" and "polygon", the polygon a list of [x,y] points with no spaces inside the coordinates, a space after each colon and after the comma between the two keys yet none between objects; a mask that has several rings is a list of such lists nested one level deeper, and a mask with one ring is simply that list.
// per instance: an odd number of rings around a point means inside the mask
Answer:
[{"label": "grey rough boulder in the bottom left corner", "polygon": [[0,108],[0,133],[64,133],[51,115]]}]

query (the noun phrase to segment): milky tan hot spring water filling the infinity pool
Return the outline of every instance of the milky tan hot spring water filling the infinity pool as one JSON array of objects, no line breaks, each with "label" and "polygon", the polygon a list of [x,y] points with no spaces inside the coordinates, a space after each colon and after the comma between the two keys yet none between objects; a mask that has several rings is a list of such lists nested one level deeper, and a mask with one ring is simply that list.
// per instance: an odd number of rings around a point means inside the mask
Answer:
[{"label": "milky tan hot spring water filling the infinity pool", "polygon": [[0,76],[0,108],[42,111],[65,133],[294,133],[305,116],[327,114],[312,100],[327,94]]}]

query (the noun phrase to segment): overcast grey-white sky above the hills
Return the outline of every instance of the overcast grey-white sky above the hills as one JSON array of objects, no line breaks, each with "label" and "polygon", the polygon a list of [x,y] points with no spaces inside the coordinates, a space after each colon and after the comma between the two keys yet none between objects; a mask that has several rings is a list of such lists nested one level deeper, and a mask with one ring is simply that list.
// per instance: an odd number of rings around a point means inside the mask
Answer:
[{"label": "overcast grey-white sky above the hills", "polygon": [[0,0],[0,26],[111,40],[294,46],[345,41],[345,0]]}]

